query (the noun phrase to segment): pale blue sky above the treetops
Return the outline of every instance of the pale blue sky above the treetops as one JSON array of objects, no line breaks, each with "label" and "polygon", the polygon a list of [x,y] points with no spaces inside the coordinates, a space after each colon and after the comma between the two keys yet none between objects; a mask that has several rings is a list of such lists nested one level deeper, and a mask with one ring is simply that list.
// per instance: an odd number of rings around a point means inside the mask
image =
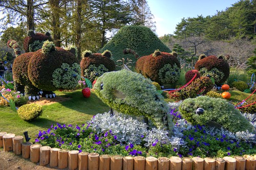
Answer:
[{"label": "pale blue sky above the treetops", "polygon": [[197,17],[198,15],[212,16],[217,11],[225,11],[238,0],[147,0],[151,13],[155,17],[156,33],[174,34],[176,25],[181,19]]}]

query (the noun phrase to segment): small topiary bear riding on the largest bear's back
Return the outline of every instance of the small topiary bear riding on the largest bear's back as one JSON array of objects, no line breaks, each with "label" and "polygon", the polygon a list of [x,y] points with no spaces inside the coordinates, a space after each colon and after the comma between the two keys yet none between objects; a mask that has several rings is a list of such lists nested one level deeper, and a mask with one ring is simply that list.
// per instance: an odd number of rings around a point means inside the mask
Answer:
[{"label": "small topiary bear riding on the largest bear's back", "polygon": [[53,41],[50,33],[34,33],[33,30],[29,30],[28,36],[24,39],[23,43],[25,52],[35,52],[39,50],[46,40]]}]

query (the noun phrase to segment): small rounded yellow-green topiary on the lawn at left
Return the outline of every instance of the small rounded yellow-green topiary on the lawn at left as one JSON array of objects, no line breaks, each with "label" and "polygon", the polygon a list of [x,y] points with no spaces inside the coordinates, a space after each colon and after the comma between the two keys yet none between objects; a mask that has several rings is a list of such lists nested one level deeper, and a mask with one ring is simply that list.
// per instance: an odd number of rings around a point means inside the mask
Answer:
[{"label": "small rounded yellow-green topiary on the lawn at left", "polygon": [[26,104],[20,106],[17,112],[21,119],[31,121],[42,114],[42,106],[35,103]]}]

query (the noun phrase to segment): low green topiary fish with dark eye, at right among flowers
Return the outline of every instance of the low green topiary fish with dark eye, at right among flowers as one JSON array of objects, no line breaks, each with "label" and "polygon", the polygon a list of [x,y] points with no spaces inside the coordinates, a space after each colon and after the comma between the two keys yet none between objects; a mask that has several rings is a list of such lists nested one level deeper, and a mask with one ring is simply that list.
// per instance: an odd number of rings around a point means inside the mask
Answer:
[{"label": "low green topiary fish with dark eye, at right among flowers", "polygon": [[[202,108],[203,111],[196,112],[198,108]],[[182,117],[193,125],[211,124],[218,126],[219,124],[231,132],[253,130],[253,126],[239,110],[220,98],[208,96],[189,98],[181,103],[179,111]]]}]

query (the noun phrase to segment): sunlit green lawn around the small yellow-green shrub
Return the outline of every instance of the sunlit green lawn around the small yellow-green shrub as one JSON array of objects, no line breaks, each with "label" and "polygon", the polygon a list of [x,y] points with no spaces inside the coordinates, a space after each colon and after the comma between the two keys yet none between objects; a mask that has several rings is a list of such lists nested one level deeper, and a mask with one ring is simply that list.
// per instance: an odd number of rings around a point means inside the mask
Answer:
[{"label": "sunlit green lawn around the small yellow-green shrub", "polygon": [[28,131],[31,141],[34,141],[39,130],[47,130],[52,124],[82,125],[90,120],[93,115],[110,110],[97,98],[93,91],[90,98],[83,98],[81,90],[73,92],[56,91],[56,94],[70,99],[44,105],[42,115],[32,122],[20,119],[18,114],[12,111],[10,107],[1,107],[0,131],[14,133],[15,135],[23,135],[23,132]]}]

